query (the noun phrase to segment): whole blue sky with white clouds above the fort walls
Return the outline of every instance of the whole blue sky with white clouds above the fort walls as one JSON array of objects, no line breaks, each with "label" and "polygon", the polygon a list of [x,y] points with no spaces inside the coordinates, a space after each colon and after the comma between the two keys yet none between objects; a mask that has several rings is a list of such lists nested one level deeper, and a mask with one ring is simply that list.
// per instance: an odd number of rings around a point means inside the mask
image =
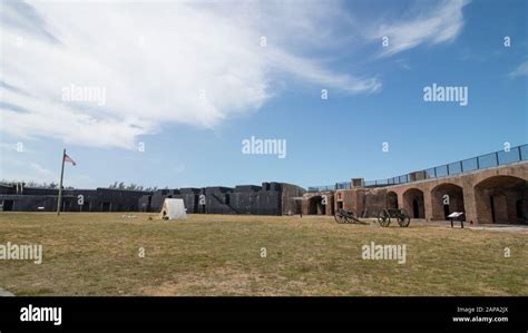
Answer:
[{"label": "whole blue sky with white clouds above the fort walls", "polygon": [[[2,2],[0,178],[58,182],[66,147],[76,187],[307,187],[521,145],[527,7]],[[423,101],[432,84],[467,87],[468,106]],[[105,105],[65,101],[70,85]],[[242,154],[252,136],[286,140],[286,158]]]}]

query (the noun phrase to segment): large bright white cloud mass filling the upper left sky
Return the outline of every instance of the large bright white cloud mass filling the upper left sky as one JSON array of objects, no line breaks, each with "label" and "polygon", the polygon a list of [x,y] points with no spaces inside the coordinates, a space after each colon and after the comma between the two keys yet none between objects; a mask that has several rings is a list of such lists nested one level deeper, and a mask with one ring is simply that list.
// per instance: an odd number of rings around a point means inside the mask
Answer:
[{"label": "large bright white cloud mass filling the upper left sky", "polygon": [[[306,49],[330,46],[340,2],[7,2],[0,129],[19,138],[131,148],[166,124],[214,128],[262,107],[274,80],[373,92]],[[339,19],[339,20],[338,20]],[[310,33],[306,33],[310,32]],[[266,47],[261,37],[266,37]],[[310,36],[306,38],[304,36]],[[65,101],[70,85],[106,102]]]}]

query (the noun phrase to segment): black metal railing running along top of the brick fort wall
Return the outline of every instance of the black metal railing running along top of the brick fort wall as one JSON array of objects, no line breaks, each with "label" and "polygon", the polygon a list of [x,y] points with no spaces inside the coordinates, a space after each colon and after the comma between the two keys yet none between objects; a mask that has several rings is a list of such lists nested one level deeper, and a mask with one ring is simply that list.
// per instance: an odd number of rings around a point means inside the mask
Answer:
[{"label": "black metal railing running along top of the brick fort wall", "polygon": [[[501,165],[508,165],[512,163],[518,163],[522,160],[528,160],[528,144],[522,146],[512,147],[510,149],[498,150],[495,153],[480,155],[477,157],[462,159],[459,161],[432,167],[429,169],[405,174],[401,176],[395,176],[387,179],[378,180],[366,180],[361,186],[364,187],[382,187],[390,185],[399,185],[405,183],[412,183],[423,179],[440,178],[446,176],[453,176],[458,174],[487,169],[492,167],[498,167]],[[335,183],[334,185],[327,186],[313,186],[309,187],[309,192],[327,192],[335,189],[349,189],[352,188],[352,183],[343,182]]]}]

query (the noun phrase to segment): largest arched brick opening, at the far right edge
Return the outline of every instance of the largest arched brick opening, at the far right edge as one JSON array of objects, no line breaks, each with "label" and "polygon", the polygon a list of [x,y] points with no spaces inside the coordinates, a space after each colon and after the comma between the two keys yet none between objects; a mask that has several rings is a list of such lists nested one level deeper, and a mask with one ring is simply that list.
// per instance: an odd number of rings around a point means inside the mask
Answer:
[{"label": "largest arched brick opening, at the far right edge", "polygon": [[479,223],[527,223],[528,185],[514,176],[492,176],[475,186]]}]

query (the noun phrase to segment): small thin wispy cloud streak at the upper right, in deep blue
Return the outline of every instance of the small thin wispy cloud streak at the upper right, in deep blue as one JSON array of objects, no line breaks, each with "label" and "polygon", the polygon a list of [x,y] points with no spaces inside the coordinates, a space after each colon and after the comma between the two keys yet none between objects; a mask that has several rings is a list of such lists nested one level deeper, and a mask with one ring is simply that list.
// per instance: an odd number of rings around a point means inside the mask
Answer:
[{"label": "small thin wispy cloud streak at the upper right, in deep blue", "polygon": [[[421,45],[438,45],[453,41],[462,30],[462,9],[470,0],[443,0],[434,7],[421,9],[418,14],[399,18],[390,23],[372,28],[370,38],[379,41],[389,38],[381,57],[392,56]],[[421,6],[430,2],[419,2]]]}]

